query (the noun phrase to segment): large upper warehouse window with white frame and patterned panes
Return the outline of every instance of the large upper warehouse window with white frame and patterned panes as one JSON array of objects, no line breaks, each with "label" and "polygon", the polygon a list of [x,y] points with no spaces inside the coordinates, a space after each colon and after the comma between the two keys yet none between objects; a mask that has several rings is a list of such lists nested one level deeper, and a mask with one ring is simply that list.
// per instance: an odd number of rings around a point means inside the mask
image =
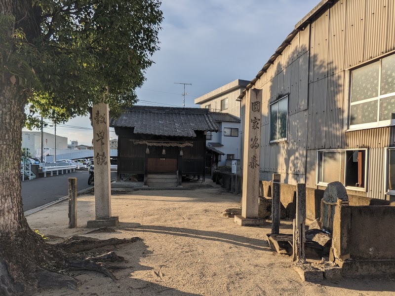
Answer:
[{"label": "large upper warehouse window with white frame and patterned panes", "polygon": [[395,124],[395,55],[351,72],[350,129]]}]

